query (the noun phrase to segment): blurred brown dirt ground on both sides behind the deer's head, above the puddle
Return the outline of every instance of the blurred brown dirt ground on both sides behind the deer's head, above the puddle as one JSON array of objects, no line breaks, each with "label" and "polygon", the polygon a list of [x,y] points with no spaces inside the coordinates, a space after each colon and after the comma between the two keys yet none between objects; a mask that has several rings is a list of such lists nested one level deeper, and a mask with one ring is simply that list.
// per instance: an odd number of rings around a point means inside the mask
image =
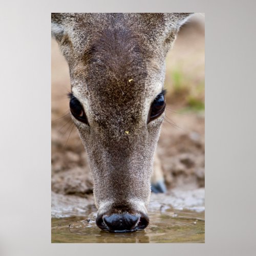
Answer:
[{"label": "blurred brown dirt ground on both sides behind the deer's head, above the puddle", "polygon": [[[179,90],[174,72],[181,77]],[[204,102],[204,22],[191,21],[180,30],[166,58],[165,87],[168,104],[157,151],[166,186],[204,187],[204,110],[189,103],[193,97]],[[69,116],[69,91],[69,69],[52,40],[52,190],[86,197],[93,179]]]}]

